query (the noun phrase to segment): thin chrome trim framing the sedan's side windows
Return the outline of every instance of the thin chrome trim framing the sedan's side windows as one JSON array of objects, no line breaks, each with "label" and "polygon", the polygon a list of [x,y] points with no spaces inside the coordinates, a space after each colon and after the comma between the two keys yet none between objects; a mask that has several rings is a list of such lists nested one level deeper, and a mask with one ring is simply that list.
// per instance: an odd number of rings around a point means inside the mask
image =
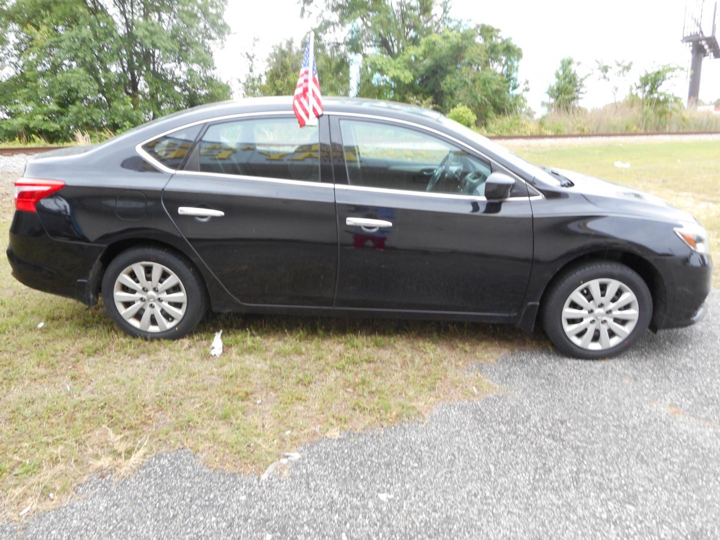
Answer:
[{"label": "thin chrome trim framing the sedan's side windows", "polygon": [[[379,114],[366,114],[361,112],[339,112],[339,111],[325,111],[324,114],[330,114],[335,116],[341,116],[341,117],[356,117],[356,118],[367,118],[369,120],[383,120],[384,122],[390,122],[390,123],[396,123],[396,124],[402,124],[402,125],[408,125],[411,127],[417,127],[420,130],[425,130],[431,133],[434,133],[435,135],[439,135],[442,138],[449,139],[453,141],[456,144],[462,145],[468,150],[471,150],[472,153],[477,154],[477,156],[482,157],[483,159],[486,159],[487,161],[490,161],[491,163],[497,163],[497,165],[503,169],[507,174],[510,174],[514,179],[521,181],[523,184],[528,186],[528,192],[530,189],[534,189],[533,187],[529,186],[528,183],[523,180],[520,176],[515,174],[513,171],[510,171],[507,167],[505,167],[502,163],[498,163],[497,161],[490,158],[490,156],[485,155],[485,153],[482,153],[482,151],[478,150],[477,148],[474,148],[473,146],[464,143],[462,140],[454,138],[452,135],[448,135],[446,132],[433,129],[432,127],[428,127],[422,124],[417,124],[415,122],[410,122],[408,120],[402,120],[400,118],[393,118],[393,117],[385,117]],[[291,185],[300,185],[300,186],[323,186],[323,187],[334,187],[334,188],[340,188],[340,189],[355,189],[359,191],[368,191],[368,192],[379,192],[379,193],[397,193],[397,194],[407,194],[407,195],[419,195],[420,197],[438,197],[441,199],[467,199],[467,200],[473,200],[473,201],[487,201],[485,197],[482,197],[480,195],[463,195],[463,194],[452,194],[452,193],[432,193],[432,192],[415,192],[411,190],[405,190],[405,189],[390,189],[390,188],[382,188],[382,187],[369,187],[369,186],[350,186],[348,184],[330,184],[329,182],[323,182],[323,181],[317,181],[317,182],[309,182],[309,181],[303,181],[303,180],[288,180],[288,179],[276,179],[276,178],[268,178],[265,176],[244,176],[239,174],[224,174],[224,173],[208,173],[204,171],[182,171],[180,169],[172,169],[169,167],[164,166],[162,163],[157,161],[153,156],[150,156],[145,150],[143,150],[143,145],[146,145],[147,143],[152,142],[153,140],[156,140],[157,138],[164,137],[165,135],[169,135],[170,133],[184,130],[188,127],[193,127],[199,124],[210,124],[211,122],[221,122],[222,120],[233,120],[235,118],[246,118],[246,117],[258,117],[258,116],[287,116],[292,117],[293,112],[292,111],[255,111],[255,112],[238,112],[235,114],[223,114],[222,116],[212,117],[212,118],[206,118],[204,120],[195,120],[194,122],[188,122],[187,124],[173,127],[171,130],[166,130],[161,133],[158,133],[157,135],[153,135],[153,137],[150,137],[148,139],[143,140],[142,142],[135,145],[135,152],[137,152],[140,157],[145,159],[145,161],[148,161],[150,165],[155,166],[156,168],[159,168],[161,171],[167,174],[181,174],[181,175],[197,175],[197,176],[211,176],[211,177],[217,177],[217,178],[239,178],[243,180],[256,180],[256,181],[266,181],[266,182],[274,182],[276,184],[291,184]],[[537,191],[534,189],[534,191]],[[508,199],[498,199],[502,200],[503,202],[511,202],[511,201],[525,201],[525,200],[541,200],[544,199],[543,194],[538,195],[531,195],[531,196],[523,196],[523,197],[509,197]]]}]

